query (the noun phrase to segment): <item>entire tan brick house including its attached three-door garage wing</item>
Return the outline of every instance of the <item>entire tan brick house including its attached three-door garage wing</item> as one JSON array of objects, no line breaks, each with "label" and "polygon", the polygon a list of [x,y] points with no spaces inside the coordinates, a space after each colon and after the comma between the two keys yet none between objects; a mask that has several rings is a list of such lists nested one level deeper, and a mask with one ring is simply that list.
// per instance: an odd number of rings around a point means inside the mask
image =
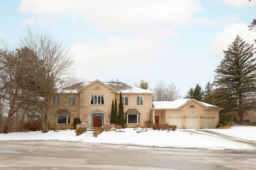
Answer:
[{"label": "entire tan brick house including its attached three-door garage wing", "polygon": [[154,92],[120,81],[85,82],[56,93],[49,113],[50,129],[72,129],[79,117],[86,127],[101,127],[110,121],[112,101],[124,104],[126,127],[144,127],[146,121],[178,128],[215,128],[221,108],[194,99],[152,102]]}]

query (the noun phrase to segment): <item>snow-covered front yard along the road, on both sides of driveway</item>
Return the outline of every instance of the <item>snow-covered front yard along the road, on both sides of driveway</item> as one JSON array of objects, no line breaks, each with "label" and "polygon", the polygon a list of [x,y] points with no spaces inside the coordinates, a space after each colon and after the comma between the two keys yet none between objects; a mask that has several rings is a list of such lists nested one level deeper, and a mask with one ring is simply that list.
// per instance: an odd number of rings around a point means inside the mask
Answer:
[{"label": "snow-covered front yard along the road, on both sides of driveway", "polygon": [[[248,128],[247,130],[245,128]],[[235,137],[249,137],[255,140],[256,127],[233,127],[232,129],[211,129],[225,135],[233,134]],[[0,140],[61,140],[61,141],[82,141],[96,143],[129,144],[157,147],[178,147],[178,148],[208,148],[208,149],[253,149],[248,144],[233,142],[215,136],[196,134],[184,130],[158,131],[148,129],[147,132],[137,133],[133,128],[122,129],[125,132],[102,132],[97,138],[93,137],[92,131],[76,137],[74,130],[49,131],[47,133],[18,132],[0,134]],[[239,136],[240,135],[240,136]],[[247,138],[249,139],[249,138]]]}]

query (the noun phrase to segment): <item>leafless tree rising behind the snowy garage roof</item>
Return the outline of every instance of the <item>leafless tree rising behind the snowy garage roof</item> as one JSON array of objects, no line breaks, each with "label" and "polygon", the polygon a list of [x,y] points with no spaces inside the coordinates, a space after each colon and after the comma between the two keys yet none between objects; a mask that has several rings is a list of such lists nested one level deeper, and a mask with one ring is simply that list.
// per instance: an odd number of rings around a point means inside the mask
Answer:
[{"label": "leafless tree rising behind the snowy garage roof", "polygon": [[174,83],[165,85],[164,82],[159,81],[152,90],[155,92],[153,101],[173,101],[181,97],[179,89]]}]

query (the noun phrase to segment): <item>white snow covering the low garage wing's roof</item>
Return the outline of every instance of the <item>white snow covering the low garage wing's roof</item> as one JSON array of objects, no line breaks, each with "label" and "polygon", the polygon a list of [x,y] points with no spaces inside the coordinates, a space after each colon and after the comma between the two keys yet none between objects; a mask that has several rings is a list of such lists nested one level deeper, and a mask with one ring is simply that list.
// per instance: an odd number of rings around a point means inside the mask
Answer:
[{"label": "white snow covering the low garage wing's roof", "polygon": [[[182,105],[186,104],[187,102],[191,101],[192,99],[177,99],[174,101],[160,101],[160,102],[153,102],[154,109],[178,109]],[[194,99],[193,99],[194,100]],[[197,101],[197,100],[195,100]],[[208,103],[200,102],[202,105],[209,107],[209,108],[219,108],[218,106],[210,105]]]}]

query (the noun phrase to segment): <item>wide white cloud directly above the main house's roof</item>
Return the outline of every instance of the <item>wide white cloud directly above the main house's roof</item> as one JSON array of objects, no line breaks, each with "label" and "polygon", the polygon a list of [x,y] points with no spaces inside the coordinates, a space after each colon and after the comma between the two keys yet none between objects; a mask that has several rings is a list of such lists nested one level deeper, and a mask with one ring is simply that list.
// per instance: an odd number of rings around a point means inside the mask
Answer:
[{"label": "wide white cloud directly above the main house's roof", "polygon": [[156,39],[135,35],[108,37],[97,42],[80,42],[72,45],[70,51],[74,55],[78,73],[94,70],[96,74],[104,69],[115,70],[119,66],[148,64],[168,53],[171,48],[171,44],[162,44]]}]

